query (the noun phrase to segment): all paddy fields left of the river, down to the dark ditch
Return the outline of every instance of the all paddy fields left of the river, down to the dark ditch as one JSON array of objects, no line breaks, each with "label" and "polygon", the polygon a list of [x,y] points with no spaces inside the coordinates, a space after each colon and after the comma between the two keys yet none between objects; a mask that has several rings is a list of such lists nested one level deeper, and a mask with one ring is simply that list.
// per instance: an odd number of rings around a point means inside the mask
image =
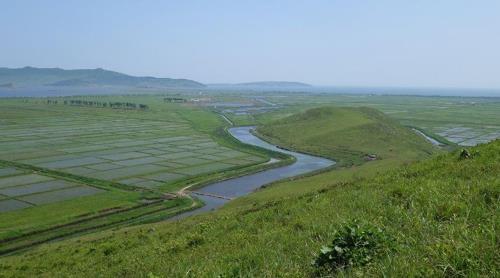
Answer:
[{"label": "all paddy fields left of the river, down to the dark ditch", "polygon": [[[154,96],[127,100],[151,108],[0,101],[0,241],[8,243],[0,253],[55,234],[178,213],[195,206],[194,200],[163,194],[175,193],[182,181],[235,173],[269,159],[195,128],[200,122],[211,130],[223,126],[216,114],[198,115]],[[52,230],[59,226],[65,228]]]}]

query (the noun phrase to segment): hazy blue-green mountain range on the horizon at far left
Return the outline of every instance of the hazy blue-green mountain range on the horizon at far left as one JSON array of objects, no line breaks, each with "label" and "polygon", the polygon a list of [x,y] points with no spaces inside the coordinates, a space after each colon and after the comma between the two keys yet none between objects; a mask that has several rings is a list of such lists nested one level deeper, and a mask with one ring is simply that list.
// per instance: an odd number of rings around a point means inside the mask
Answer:
[{"label": "hazy blue-green mountain range on the horizon at far left", "polygon": [[0,68],[0,84],[8,87],[30,86],[127,86],[203,88],[204,84],[189,79],[137,77],[104,69]]}]

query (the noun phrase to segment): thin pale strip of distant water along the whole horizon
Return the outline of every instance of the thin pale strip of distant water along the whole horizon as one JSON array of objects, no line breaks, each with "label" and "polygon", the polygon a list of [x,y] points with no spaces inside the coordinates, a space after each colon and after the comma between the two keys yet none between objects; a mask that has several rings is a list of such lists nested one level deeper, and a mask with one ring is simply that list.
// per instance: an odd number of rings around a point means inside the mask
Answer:
[{"label": "thin pale strip of distant water along the whole horizon", "polygon": [[417,95],[417,96],[462,96],[462,97],[500,97],[500,89],[461,89],[461,88],[396,88],[396,87],[300,87],[300,88],[132,88],[132,87],[19,87],[0,88],[0,97],[59,97],[81,95],[130,95],[130,94],[158,94],[168,92],[235,92],[235,91],[280,91],[280,92],[310,92],[320,94],[374,94],[374,95]]}]

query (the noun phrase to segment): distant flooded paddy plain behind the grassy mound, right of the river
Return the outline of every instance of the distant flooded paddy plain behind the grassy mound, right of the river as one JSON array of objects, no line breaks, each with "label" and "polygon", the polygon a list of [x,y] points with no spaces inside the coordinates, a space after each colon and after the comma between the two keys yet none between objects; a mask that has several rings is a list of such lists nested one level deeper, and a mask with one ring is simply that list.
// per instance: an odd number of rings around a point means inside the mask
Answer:
[{"label": "distant flooded paddy plain behind the grassy mound, right of the river", "polygon": [[[229,113],[237,123],[267,123],[299,111],[324,105],[367,106],[402,124],[417,127],[432,137],[461,146],[475,146],[500,138],[500,98],[398,95],[343,95],[267,93],[245,95],[280,107],[270,113]],[[234,101],[234,99],[232,99]]]}]

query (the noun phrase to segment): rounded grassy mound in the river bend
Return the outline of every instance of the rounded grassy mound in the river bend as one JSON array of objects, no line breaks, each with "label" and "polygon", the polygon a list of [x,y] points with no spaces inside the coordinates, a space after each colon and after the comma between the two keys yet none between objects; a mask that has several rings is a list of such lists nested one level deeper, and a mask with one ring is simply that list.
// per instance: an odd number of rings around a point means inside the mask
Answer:
[{"label": "rounded grassy mound in the river bend", "polygon": [[321,107],[258,128],[278,145],[359,165],[377,159],[421,159],[435,152],[421,136],[372,108]]}]

